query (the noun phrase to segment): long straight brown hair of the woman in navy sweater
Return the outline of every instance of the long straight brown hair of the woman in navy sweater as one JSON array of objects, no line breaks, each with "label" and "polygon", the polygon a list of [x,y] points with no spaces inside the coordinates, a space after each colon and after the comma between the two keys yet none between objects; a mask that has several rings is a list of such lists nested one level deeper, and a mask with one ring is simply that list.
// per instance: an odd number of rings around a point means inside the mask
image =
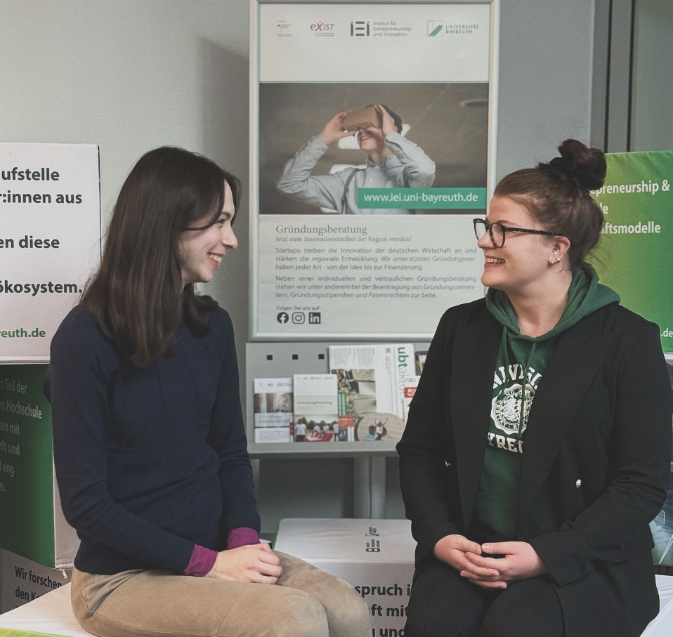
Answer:
[{"label": "long straight brown hair of the woman in navy sweater", "polygon": [[119,191],[100,268],[80,306],[138,367],[171,353],[181,317],[195,334],[210,329],[207,313],[217,303],[192,284],[183,289],[178,240],[206,216],[204,228],[216,222],[225,181],[237,209],[240,180],[207,157],[164,146],[143,155]]}]

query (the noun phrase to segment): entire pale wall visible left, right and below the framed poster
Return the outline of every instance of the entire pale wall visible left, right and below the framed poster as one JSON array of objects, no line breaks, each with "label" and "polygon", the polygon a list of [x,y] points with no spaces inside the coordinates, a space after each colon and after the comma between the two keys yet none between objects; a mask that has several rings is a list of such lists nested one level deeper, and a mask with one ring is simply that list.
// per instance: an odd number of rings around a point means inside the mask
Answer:
[{"label": "entire pale wall visible left, right and below the framed poster", "polygon": [[[588,140],[593,0],[502,0],[497,176]],[[143,152],[181,145],[247,180],[247,0],[0,0],[0,140],[100,145],[103,225]],[[247,204],[209,290],[247,340]],[[0,219],[1,223],[1,219]],[[438,317],[439,318],[439,317]],[[291,471],[287,471],[291,468]],[[352,512],[348,460],[262,461],[263,529]],[[388,461],[386,515],[403,515]]]}]

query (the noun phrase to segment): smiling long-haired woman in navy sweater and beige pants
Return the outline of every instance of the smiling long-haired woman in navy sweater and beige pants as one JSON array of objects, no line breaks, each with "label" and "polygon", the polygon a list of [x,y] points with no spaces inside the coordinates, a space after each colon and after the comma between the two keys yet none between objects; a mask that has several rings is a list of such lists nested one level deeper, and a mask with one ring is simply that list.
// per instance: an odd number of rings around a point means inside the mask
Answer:
[{"label": "smiling long-haired woman in navy sweater and beige pants", "polygon": [[259,539],[232,322],[194,289],[237,247],[240,197],[202,155],[143,155],[51,343],[72,609],[100,637],[370,637],[355,589]]}]

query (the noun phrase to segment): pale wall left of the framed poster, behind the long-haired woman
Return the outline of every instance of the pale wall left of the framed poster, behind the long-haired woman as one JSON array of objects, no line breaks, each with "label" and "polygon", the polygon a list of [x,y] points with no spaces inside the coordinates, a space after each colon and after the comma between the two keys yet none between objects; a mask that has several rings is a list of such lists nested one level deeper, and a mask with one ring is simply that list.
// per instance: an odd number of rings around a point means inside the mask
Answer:
[{"label": "pale wall left of the framed poster, behind the long-haired woman", "polygon": [[[100,145],[103,228],[138,157],[160,145],[248,170],[245,0],[1,0],[0,139]],[[247,204],[243,204],[247,208]],[[247,211],[218,285],[247,338]]]}]

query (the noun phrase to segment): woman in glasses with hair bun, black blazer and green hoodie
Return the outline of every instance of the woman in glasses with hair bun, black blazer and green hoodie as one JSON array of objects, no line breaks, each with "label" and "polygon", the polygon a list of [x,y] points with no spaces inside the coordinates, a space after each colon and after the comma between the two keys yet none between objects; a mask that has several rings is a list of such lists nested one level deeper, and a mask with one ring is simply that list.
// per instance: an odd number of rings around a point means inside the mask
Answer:
[{"label": "woman in glasses with hair bun, black blazer and green hoodie", "polygon": [[603,152],[559,150],[474,220],[488,292],[440,320],[398,443],[417,540],[405,637],[636,637],[659,610],[659,329],[584,261]]}]

